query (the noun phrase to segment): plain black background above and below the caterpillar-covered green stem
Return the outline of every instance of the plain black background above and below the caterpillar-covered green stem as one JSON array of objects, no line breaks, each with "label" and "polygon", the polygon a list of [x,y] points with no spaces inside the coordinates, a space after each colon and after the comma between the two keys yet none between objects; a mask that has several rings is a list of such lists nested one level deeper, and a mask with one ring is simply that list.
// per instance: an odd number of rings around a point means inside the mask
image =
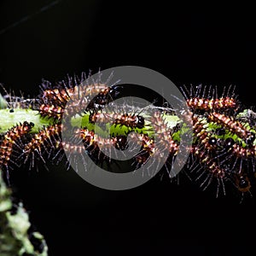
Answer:
[{"label": "plain black background above and below the caterpillar-covered green stem", "polygon": [[[249,7],[137,2],[1,1],[0,82],[37,96],[43,78],[133,65],[177,85],[236,84],[241,102],[255,104]],[[215,199],[185,177],[180,185],[154,177],[136,189],[108,191],[64,166],[49,169],[13,173],[49,255],[248,255],[253,248],[253,199]]]}]

